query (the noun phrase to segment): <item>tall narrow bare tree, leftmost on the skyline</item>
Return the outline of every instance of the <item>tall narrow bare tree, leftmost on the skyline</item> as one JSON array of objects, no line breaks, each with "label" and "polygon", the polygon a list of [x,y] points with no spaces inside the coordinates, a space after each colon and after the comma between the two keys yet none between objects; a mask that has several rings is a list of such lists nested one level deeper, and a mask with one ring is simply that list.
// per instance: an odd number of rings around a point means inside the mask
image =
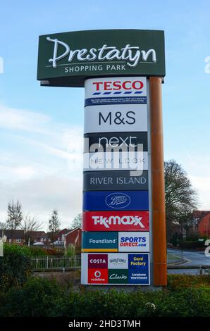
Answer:
[{"label": "tall narrow bare tree, leftmost on the skyline", "polygon": [[8,218],[6,220],[6,228],[11,230],[11,239],[13,239],[13,232],[20,227],[21,221],[23,220],[22,206],[20,201],[16,204],[13,201],[8,203],[7,207]]}]

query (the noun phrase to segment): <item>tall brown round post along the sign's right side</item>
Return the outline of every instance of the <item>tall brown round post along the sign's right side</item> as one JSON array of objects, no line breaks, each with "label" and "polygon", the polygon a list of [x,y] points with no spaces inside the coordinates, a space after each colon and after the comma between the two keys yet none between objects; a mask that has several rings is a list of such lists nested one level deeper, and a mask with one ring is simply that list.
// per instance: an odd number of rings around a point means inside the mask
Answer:
[{"label": "tall brown round post along the sign's right side", "polygon": [[150,77],[154,285],[167,285],[161,78]]}]

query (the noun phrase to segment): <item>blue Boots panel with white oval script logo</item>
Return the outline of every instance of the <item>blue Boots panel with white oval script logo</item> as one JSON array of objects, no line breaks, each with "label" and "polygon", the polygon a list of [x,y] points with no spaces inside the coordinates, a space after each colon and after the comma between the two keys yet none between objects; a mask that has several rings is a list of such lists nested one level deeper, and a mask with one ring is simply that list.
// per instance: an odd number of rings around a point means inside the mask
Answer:
[{"label": "blue Boots panel with white oval script logo", "polygon": [[148,211],[148,191],[83,193],[83,211]]}]

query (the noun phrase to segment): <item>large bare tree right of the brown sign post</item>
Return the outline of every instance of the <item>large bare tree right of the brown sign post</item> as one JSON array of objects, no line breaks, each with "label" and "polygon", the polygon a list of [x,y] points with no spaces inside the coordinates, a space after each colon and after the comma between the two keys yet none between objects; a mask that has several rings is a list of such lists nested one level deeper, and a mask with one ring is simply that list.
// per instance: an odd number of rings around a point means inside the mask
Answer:
[{"label": "large bare tree right of the brown sign post", "polygon": [[166,227],[170,238],[173,230],[183,234],[193,223],[192,211],[197,208],[197,192],[187,173],[175,160],[165,162]]}]

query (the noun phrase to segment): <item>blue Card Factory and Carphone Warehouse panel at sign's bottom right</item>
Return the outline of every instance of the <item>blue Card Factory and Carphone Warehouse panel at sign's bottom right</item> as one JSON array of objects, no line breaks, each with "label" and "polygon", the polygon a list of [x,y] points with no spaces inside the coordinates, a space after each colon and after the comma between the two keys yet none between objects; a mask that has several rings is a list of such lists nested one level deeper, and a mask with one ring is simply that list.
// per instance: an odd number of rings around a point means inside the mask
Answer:
[{"label": "blue Card Factory and Carphone Warehouse panel at sign's bottom right", "polygon": [[149,254],[128,254],[128,282],[149,285]]}]

